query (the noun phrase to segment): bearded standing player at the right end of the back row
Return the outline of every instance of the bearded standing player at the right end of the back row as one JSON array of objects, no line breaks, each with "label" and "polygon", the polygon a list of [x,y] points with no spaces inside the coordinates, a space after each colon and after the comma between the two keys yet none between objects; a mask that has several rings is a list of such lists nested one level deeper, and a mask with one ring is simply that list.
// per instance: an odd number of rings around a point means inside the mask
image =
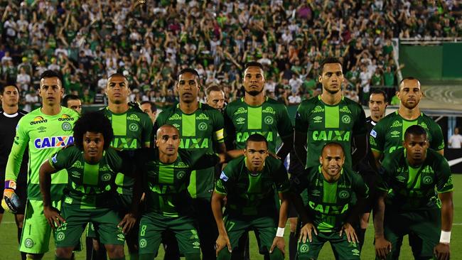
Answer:
[{"label": "bearded standing player at the right end of the back row", "polygon": [[[419,102],[422,97],[419,80],[414,77],[404,78],[399,82],[397,97],[401,101],[399,109],[380,120],[370,131],[370,148],[377,168],[380,166],[380,161],[386,160],[393,151],[402,147],[404,132],[409,126],[416,124],[426,130],[429,148],[443,155],[444,139],[441,127],[433,119],[420,112],[419,109]],[[375,210],[381,211],[381,207],[381,205],[377,205]],[[383,227],[377,227],[375,224],[374,226],[375,249],[380,251],[389,247],[390,242],[385,240]]]}]

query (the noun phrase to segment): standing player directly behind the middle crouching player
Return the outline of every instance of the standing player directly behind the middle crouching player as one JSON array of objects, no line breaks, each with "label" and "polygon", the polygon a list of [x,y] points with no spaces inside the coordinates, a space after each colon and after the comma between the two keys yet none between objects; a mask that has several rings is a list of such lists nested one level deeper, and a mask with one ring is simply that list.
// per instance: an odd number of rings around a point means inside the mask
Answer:
[{"label": "standing player directly behind the middle crouching player", "polygon": [[[282,139],[277,156],[286,158],[292,150],[294,129],[284,104],[264,94],[263,66],[257,62],[245,65],[242,85],[245,96],[227,105],[225,109],[225,129],[227,147],[245,148],[245,141],[252,134],[262,134],[268,141],[268,151],[276,153],[276,137]],[[276,199],[276,197],[275,197]],[[243,235],[233,258],[241,255],[242,247],[248,237]]]}]

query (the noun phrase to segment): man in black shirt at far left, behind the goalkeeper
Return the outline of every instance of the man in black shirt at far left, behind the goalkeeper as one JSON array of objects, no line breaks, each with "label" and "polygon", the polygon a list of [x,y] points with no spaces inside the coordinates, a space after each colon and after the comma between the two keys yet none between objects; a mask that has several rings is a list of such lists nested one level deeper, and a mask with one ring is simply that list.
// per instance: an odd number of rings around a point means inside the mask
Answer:
[{"label": "man in black shirt at far left, behind the goalkeeper", "polygon": [[[4,190],[6,162],[11,151],[11,146],[16,135],[16,125],[19,119],[27,112],[18,108],[19,91],[18,87],[9,85],[0,89],[1,109],[0,112],[0,190]],[[27,198],[27,162],[28,152],[24,153],[23,163],[18,175],[16,195],[21,201],[21,207],[15,214],[16,226],[18,227],[18,242],[21,241],[23,229],[24,210]],[[11,185],[11,183],[10,183]],[[3,217],[4,208],[0,207],[0,222]],[[26,253],[21,252],[21,258],[26,259]]]}]

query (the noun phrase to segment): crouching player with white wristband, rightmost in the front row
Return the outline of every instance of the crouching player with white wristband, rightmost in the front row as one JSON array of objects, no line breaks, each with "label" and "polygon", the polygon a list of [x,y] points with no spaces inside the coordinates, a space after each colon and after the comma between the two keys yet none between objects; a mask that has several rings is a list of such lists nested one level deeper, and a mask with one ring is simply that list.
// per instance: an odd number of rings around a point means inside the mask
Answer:
[{"label": "crouching player with white wristband, rightmost in the front row", "polygon": [[403,146],[385,157],[379,170],[381,193],[374,209],[377,259],[398,259],[407,234],[415,259],[449,259],[451,168],[429,148],[427,133],[419,125],[405,131]]}]

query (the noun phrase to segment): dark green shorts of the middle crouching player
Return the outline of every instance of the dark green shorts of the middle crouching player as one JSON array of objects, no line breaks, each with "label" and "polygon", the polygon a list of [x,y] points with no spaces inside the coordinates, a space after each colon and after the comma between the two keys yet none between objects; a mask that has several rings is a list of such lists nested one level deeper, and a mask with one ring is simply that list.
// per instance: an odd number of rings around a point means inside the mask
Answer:
[{"label": "dark green shorts of the middle crouching player", "polygon": [[[231,247],[234,250],[239,243],[242,234],[253,230],[257,242],[259,244],[259,251],[262,254],[267,254],[273,244],[274,237],[276,237],[277,223],[272,217],[243,217],[238,219],[235,217],[225,216],[225,227],[227,236],[230,239]],[[284,259],[279,249],[274,249],[272,254],[269,254],[270,259]],[[225,247],[218,253],[217,259],[230,259],[230,253]]]}]

